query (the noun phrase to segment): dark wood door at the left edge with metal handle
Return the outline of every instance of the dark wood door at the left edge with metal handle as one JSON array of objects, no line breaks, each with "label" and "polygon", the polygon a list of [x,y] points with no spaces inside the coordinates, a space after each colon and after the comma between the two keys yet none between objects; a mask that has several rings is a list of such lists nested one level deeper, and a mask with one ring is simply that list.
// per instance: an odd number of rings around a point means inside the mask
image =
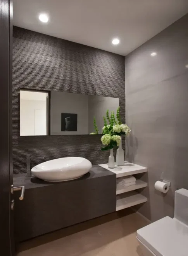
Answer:
[{"label": "dark wood door at the left edge with metal handle", "polygon": [[0,0],[0,254],[14,255],[12,184],[12,0]]}]

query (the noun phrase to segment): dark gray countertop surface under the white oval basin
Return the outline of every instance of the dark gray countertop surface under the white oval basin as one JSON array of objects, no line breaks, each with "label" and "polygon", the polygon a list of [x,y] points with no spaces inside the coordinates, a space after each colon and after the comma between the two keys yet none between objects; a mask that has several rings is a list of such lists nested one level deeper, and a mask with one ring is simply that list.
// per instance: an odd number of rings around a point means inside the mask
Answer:
[{"label": "dark gray countertop surface under the white oval basin", "polygon": [[114,173],[112,171],[109,171],[103,168],[102,166],[93,165],[91,170],[88,173],[86,173],[81,178],[78,178],[75,180],[69,180],[64,182],[45,182],[44,180],[40,180],[34,176],[27,177],[26,173],[21,173],[21,174],[14,175],[13,182],[14,182],[14,187],[25,186],[25,189],[34,189],[37,187],[51,186],[55,184],[65,183],[65,182],[66,183],[75,182],[79,180],[90,180],[90,179],[99,178],[103,176],[110,176],[110,175],[114,175]]}]

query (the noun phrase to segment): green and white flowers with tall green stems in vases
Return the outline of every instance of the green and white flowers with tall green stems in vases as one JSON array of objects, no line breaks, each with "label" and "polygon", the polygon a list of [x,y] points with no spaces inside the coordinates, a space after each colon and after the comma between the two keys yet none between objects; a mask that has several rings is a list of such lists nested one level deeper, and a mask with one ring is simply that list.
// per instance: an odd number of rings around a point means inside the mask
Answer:
[{"label": "green and white flowers with tall green stems in vases", "polygon": [[127,125],[122,124],[119,111],[120,107],[117,108],[115,118],[114,111],[111,112],[109,116],[109,110],[107,109],[106,117],[103,117],[104,127],[102,128],[103,136],[101,141],[104,147],[101,148],[102,151],[113,149],[114,146],[119,146],[121,142],[121,136],[129,135],[131,133],[131,129]]}]

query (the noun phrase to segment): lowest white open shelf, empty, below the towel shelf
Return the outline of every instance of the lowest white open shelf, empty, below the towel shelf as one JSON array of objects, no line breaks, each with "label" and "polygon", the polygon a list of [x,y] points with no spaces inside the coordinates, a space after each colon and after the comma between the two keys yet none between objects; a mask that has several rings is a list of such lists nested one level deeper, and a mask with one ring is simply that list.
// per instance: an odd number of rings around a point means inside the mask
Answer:
[{"label": "lowest white open shelf, empty, below the towel shelf", "polygon": [[147,202],[147,198],[136,191],[130,191],[125,194],[117,195],[116,211]]}]

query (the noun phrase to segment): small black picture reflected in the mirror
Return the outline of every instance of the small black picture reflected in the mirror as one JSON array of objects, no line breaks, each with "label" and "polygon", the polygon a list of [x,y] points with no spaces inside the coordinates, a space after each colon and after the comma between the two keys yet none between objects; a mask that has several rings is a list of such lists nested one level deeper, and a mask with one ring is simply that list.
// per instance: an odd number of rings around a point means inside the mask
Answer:
[{"label": "small black picture reflected in the mirror", "polygon": [[61,113],[61,131],[77,131],[77,114]]}]

